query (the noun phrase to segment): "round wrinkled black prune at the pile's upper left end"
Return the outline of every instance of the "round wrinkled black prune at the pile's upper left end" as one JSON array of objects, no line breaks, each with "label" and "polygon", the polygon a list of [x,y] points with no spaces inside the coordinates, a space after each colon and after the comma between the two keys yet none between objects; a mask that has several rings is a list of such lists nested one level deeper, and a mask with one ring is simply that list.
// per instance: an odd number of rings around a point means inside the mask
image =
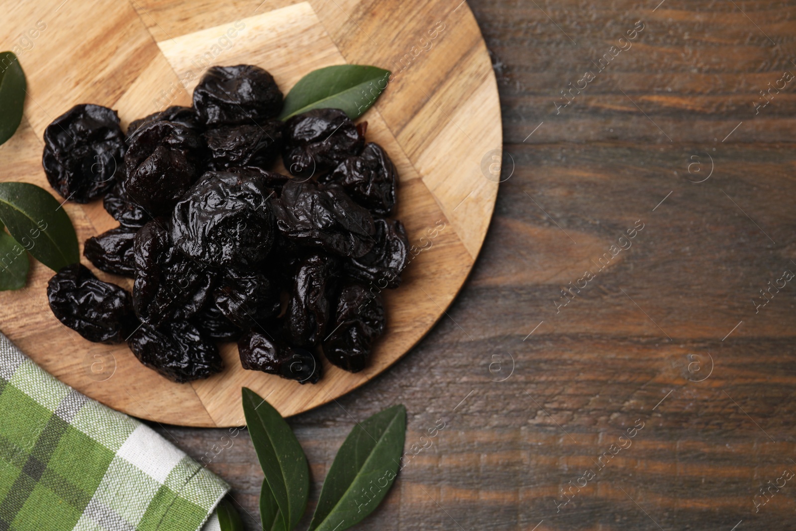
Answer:
[{"label": "round wrinkled black prune at the pile's upper left end", "polygon": [[76,105],[53,120],[44,137],[41,164],[61,197],[88,203],[113,187],[126,148],[116,111]]}]

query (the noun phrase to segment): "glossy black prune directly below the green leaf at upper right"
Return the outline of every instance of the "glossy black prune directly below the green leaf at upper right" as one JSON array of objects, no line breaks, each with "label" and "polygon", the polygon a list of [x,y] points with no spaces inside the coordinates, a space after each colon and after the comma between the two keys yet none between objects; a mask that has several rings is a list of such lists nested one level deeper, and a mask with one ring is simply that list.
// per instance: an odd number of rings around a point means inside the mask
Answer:
[{"label": "glossy black prune directly below the green leaf at upper right", "polygon": [[365,137],[340,109],[313,109],[285,123],[282,161],[298,177],[332,170],[361,153]]}]

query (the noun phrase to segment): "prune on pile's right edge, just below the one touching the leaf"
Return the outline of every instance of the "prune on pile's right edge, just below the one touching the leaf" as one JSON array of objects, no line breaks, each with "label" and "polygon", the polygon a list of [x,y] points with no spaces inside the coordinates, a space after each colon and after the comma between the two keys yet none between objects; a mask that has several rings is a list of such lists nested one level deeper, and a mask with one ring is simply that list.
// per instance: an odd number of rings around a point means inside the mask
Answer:
[{"label": "prune on pile's right edge, just below the one touching the leaf", "polygon": [[372,213],[388,216],[396,204],[398,172],[377,143],[365,144],[362,153],[346,158],[322,182],[336,182]]}]

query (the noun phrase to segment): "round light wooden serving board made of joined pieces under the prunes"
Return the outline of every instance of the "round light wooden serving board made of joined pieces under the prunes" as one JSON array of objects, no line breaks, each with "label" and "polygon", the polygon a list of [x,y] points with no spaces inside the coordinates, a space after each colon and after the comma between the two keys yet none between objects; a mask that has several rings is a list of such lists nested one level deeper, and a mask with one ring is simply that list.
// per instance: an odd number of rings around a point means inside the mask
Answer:
[{"label": "round light wooden serving board made of joined pieces under the prunes", "polygon": [[[485,175],[499,172],[502,143],[490,57],[466,3],[53,0],[12,2],[4,18],[2,49],[18,52],[28,96],[17,134],[0,146],[0,181],[50,189],[41,170],[42,133],[76,103],[114,108],[127,127],[168,105],[189,105],[213,64],[259,65],[285,93],[315,68],[374,64],[394,76],[361,120],[368,139],[396,163],[396,217],[422,249],[403,285],[384,293],[388,326],[369,368],[350,374],[324,361],[318,385],[246,371],[234,344],[221,347],[223,373],[174,384],[126,345],[91,343],[62,326],[47,305],[53,272],[33,262],[25,290],[0,293],[0,330],[61,381],[119,411],[170,424],[244,424],[242,386],[289,416],[386,369],[443,316],[462,286],[492,216],[497,179]],[[81,246],[117,225],[102,201],[64,209]],[[131,288],[130,279],[98,275]]]}]

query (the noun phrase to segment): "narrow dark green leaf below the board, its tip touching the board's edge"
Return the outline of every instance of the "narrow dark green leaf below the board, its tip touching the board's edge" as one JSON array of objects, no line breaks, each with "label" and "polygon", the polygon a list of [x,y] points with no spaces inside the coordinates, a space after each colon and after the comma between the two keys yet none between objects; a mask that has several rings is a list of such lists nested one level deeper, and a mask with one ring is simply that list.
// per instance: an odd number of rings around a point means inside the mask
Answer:
[{"label": "narrow dark green leaf below the board, its tip touching the board's edge", "polygon": [[[265,482],[279,507],[283,526],[291,531],[306,510],[310,468],[298,439],[271,404],[256,392],[243,388],[244,415],[249,435],[263,468]],[[262,498],[262,496],[260,496]]]}]

